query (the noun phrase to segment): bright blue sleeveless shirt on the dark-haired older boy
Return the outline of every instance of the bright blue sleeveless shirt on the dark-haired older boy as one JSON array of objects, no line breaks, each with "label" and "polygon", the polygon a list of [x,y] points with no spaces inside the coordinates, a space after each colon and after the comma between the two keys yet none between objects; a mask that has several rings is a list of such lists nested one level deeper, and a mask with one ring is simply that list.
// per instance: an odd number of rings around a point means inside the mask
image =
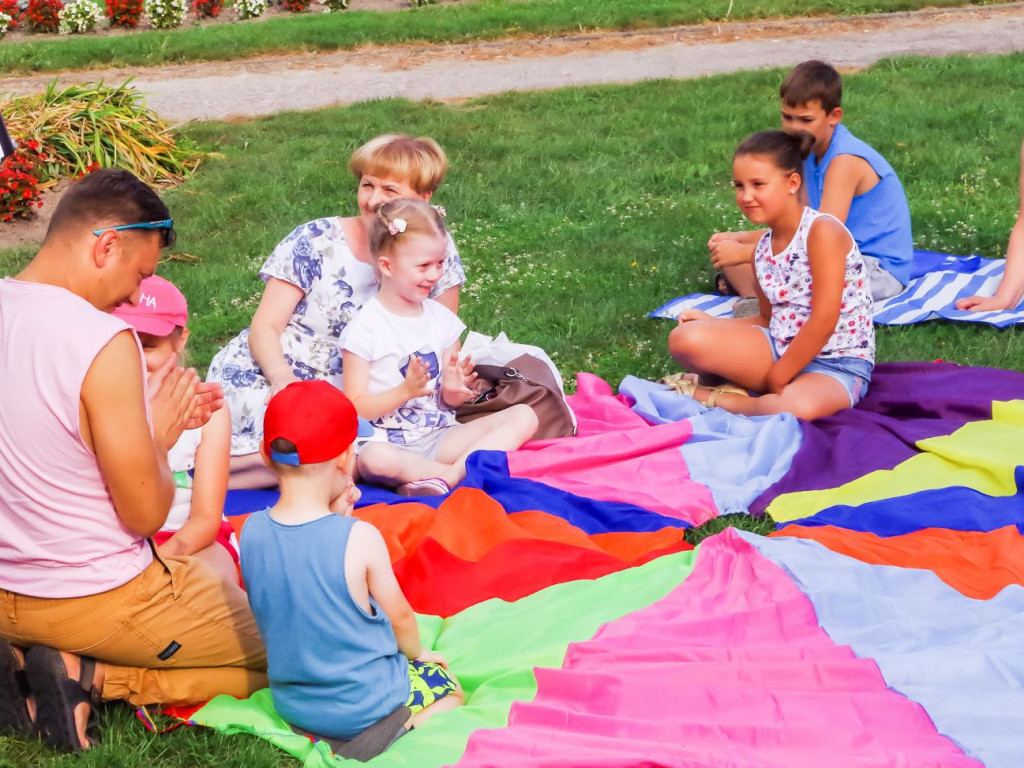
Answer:
[{"label": "bright blue sleeveless shirt on the dark-haired older boy", "polygon": [[853,155],[867,162],[879,174],[879,183],[850,203],[846,228],[857,241],[865,256],[873,256],[882,266],[904,286],[910,282],[913,259],[913,238],[910,234],[910,208],[896,171],[868,144],[861,141],[840,123],[821,162],[812,153],[804,161],[804,182],[807,184],[811,208],[821,208],[821,193],[825,173],[831,161],[840,155]]}]

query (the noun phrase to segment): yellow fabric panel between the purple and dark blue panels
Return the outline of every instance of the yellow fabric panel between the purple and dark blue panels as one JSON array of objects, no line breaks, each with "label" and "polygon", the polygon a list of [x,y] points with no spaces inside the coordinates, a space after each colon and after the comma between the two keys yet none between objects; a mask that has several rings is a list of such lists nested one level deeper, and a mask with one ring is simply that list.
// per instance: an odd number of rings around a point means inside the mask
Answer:
[{"label": "yellow fabric panel between the purple and dark blue panels", "polygon": [[995,401],[990,420],[969,422],[950,435],[921,440],[918,447],[923,453],[893,469],[870,472],[836,488],[783,494],[768,505],[768,512],[776,522],[791,522],[829,507],[856,507],[954,485],[988,496],[1013,496],[1022,443],[1024,400]]}]

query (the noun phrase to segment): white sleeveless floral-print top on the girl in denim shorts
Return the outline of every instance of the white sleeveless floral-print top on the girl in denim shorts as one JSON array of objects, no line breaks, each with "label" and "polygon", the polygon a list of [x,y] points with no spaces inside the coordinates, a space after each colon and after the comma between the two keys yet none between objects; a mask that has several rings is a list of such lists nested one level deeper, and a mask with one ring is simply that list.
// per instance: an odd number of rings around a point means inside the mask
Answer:
[{"label": "white sleeveless floral-print top on the girl in denim shorts", "polygon": [[[754,271],[761,290],[771,303],[771,332],[781,355],[811,316],[811,266],[807,258],[807,236],[820,216],[813,208],[804,208],[793,241],[779,254],[772,253],[771,230],[758,241],[754,252]],[[835,217],[829,217],[835,218]],[[838,220],[838,219],[837,219]],[[846,279],[836,330],[818,357],[859,357],[874,361],[873,305],[864,260],[857,244],[846,255]]]}]

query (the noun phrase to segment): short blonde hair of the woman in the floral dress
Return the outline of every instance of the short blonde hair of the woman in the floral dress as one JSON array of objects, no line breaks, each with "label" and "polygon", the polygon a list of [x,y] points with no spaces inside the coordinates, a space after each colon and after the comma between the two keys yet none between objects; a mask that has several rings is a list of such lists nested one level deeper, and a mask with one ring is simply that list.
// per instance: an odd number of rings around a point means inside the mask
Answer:
[{"label": "short blonde hair of the woman in the floral dress", "polygon": [[356,179],[368,173],[403,179],[417,194],[426,195],[444,180],[447,157],[440,144],[427,136],[386,133],[352,153],[348,167]]}]

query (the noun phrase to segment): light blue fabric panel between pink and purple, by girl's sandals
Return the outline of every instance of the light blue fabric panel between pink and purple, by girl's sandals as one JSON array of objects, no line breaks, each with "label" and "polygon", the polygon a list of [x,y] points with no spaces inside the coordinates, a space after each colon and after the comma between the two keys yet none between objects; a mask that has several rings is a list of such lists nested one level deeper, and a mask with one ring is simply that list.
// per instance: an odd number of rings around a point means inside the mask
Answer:
[{"label": "light blue fabric panel between pink and purple, by girl's sandals", "polygon": [[745,512],[790,471],[803,439],[792,414],[736,416],[634,376],[627,376],[618,391],[636,400],[633,410],[651,423],[689,419],[693,436],[682,447],[683,460],[690,477],[711,489],[722,513]]}]

